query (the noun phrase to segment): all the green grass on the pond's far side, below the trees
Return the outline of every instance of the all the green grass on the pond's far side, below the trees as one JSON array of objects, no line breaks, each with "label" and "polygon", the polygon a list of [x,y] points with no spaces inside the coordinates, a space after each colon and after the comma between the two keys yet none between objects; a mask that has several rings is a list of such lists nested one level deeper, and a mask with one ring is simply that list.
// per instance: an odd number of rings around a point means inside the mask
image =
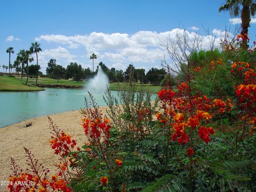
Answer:
[{"label": "all the green grass on the pond's far side, below the trees", "polygon": [[[7,75],[0,76],[0,91],[44,91],[46,88],[58,88],[58,89],[83,89],[87,81],[69,81],[66,79],[52,79],[48,77],[38,77],[37,86],[35,86],[36,78],[29,78],[28,84],[26,85],[26,79],[20,82],[21,77]],[[109,89],[111,91],[121,90],[124,83],[111,82],[109,83]],[[151,84],[140,84],[147,86],[150,93],[157,93],[161,86],[153,86]]]}]

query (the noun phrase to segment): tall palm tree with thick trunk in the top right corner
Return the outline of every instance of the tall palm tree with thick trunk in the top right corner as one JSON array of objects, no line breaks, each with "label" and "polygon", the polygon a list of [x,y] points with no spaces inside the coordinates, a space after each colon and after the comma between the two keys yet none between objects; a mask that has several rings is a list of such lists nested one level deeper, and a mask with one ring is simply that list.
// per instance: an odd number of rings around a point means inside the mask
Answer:
[{"label": "tall palm tree with thick trunk in the top right corner", "polygon": [[[248,28],[250,27],[251,15],[254,17],[256,11],[255,0],[227,0],[226,4],[221,5],[219,13],[221,11],[229,11],[231,16],[238,17],[241,14],[242,31],[241,35],[248,34]],[[245,35],[246,36],[246,35]],[[247,40],[243,41],[242,47],[248,49]]]}]

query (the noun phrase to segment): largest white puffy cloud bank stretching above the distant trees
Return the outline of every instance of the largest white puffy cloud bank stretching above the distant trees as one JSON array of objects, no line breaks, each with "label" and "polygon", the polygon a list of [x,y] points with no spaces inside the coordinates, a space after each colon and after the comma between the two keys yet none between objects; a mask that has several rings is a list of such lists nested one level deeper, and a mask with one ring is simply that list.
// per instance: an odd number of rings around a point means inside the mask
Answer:
[{"label": "largest white puffy cloud bank stretching above the distant trees", "polygon": [[[191,27],[193,30],[198,30],[197,27]],[[202,40],[202,49],[210,49],[209,39],[215,38],[214,46],[218,47],[220,38],[225,31],[213,29],[212,35],[198,35],[195,32],[189,32],[183,29],[172,29],[157,33],[156,31],[138,31],[134,34],[126,33],[97,33],[85,35],[41,35],[35,38],[35,41],[45,41],[48,43],[57,44],[57,49],[44,50],[42,57],[62,59],[67,61],[77,59],[76,55],[70,54],[69,49],[85,48],[86,52],[79,55],[84,63],[91,63],[90,55],[97,55],[97,60],[103,61],[108,67],[117,69],[125,69],[129,63],[133,62],[135,67],[147,66],[151,68],[161,64],[161,60],[166,53],[166,50],[161,46],[168,39],[173,41],[178,35],[186,34],[191,43],[197,36]],[[231,34],[230,34],[231,35]],[[70,51],[71,51],[70,50]],[[77,53],[76,53],[77,54]],[[77,59],[77,60],[79,60]],[[87,65],[87,64],[86,64]],[[126,66],[126,67],[125,67]]]}]

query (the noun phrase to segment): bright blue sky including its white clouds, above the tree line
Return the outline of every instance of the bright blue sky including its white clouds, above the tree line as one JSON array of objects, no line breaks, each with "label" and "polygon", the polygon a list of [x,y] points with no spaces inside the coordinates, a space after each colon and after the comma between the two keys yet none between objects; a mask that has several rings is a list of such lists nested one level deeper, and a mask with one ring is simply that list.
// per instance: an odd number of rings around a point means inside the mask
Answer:
[{"label": "bright blue sky including its white clouds, above the tree line", "polygon": [[[225,28],[233,33],[229,13],[218,13],[224,0],[13,0],[0,6],[0,65],[8,64],[7,47],[14,47],[13,63],[20,49],[39,42],[43,73],[53,58],[67,66],[71,61],[92,68],[89,56],[97,54],[109,68],[161,67],[164,50],[159,39],[186,28],[187,33],[206,36],[203,27],[217,35]],[[253,20],[249,35],[255,39]],[[205,44],[205,49],[207,45]],[[35,63],[35,62],[34,62]],[[2,71],[2,67],[0,68]]]}]

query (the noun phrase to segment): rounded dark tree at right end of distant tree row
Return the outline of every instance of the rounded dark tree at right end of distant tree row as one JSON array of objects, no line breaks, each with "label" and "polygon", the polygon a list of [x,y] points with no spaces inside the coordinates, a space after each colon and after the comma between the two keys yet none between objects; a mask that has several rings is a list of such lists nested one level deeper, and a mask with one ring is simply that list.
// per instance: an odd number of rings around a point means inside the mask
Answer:
[{"label": "rounded dark tree at right end of distant tree row", "polygon": [[151,68],[146,74],[146,79],[152,85],[160,85],[160,82],[164,79],[165,75],[166,75],[165,69]]}]

